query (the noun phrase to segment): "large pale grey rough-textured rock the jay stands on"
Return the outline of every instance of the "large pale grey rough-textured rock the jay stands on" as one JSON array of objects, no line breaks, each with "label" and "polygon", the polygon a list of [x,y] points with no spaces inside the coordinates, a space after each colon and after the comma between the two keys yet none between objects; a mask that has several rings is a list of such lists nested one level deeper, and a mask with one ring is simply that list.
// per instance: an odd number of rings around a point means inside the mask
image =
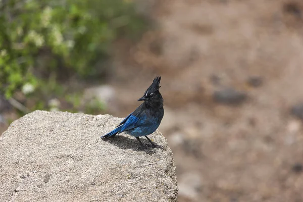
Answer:
[{"label": "large pale grey rough-textured rock the jay stands on", "polygon": [[[175,163],[164,150],[148,155],[137,140],[100,135],[122,119],[35,111],[0,137],[0,201],[177,201]],[[148,143],[142,138],[143,143]]]}]

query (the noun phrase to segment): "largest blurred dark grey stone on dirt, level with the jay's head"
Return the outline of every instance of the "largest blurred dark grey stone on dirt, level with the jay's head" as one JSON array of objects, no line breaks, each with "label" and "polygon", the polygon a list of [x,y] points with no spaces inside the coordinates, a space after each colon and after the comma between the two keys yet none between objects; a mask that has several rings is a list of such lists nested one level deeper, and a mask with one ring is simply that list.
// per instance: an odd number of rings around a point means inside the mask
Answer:
[{"label": "largest blurred dark grey stone on dirt, level with the jay's head", "polygon": [[247,94],[233,88],[225,88],[215,91],[213,94],[215,102],[226,105],[240,105],[247,98]]}]

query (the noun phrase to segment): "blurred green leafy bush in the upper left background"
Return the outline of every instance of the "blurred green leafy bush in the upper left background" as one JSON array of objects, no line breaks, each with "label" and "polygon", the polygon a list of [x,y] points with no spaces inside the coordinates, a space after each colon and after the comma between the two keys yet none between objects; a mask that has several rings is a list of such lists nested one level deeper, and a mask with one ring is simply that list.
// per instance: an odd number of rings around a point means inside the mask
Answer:
[{"label": "blurred green leafy bush in the upper left background", "polygon": [[52,73],[97,76],[112,42],[144,26],[131,0],[1,0],[0,93],[31,92]]}]

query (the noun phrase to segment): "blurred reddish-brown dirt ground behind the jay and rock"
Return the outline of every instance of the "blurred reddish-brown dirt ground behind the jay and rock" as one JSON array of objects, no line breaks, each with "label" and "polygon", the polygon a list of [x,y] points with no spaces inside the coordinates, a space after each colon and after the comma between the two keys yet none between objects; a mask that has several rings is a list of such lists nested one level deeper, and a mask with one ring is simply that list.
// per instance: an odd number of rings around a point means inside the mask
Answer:
[{"label": "blurred reddish-brown dirt ground behind the jay and rock", "polygon": [[[112,113],[127,116],[162,76],[179,201],[303,201],[302,122],[290,113],[303,102],[303,2],[148,4],[157,29],[119,48]],[[226,88],[245,98],[215,102]]]}]

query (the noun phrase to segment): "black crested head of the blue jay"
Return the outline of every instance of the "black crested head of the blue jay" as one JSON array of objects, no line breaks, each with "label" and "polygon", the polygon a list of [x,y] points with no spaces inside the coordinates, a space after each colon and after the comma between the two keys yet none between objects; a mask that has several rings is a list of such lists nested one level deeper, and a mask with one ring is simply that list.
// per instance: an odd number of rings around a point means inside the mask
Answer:
[{"label": "black crested head of the blue jay", "polygon": [[138,101],[161,101],[162,95],[159,92],[161,76],[157,76],[153,83],[145,90],[144,95],[138,99]]}]

